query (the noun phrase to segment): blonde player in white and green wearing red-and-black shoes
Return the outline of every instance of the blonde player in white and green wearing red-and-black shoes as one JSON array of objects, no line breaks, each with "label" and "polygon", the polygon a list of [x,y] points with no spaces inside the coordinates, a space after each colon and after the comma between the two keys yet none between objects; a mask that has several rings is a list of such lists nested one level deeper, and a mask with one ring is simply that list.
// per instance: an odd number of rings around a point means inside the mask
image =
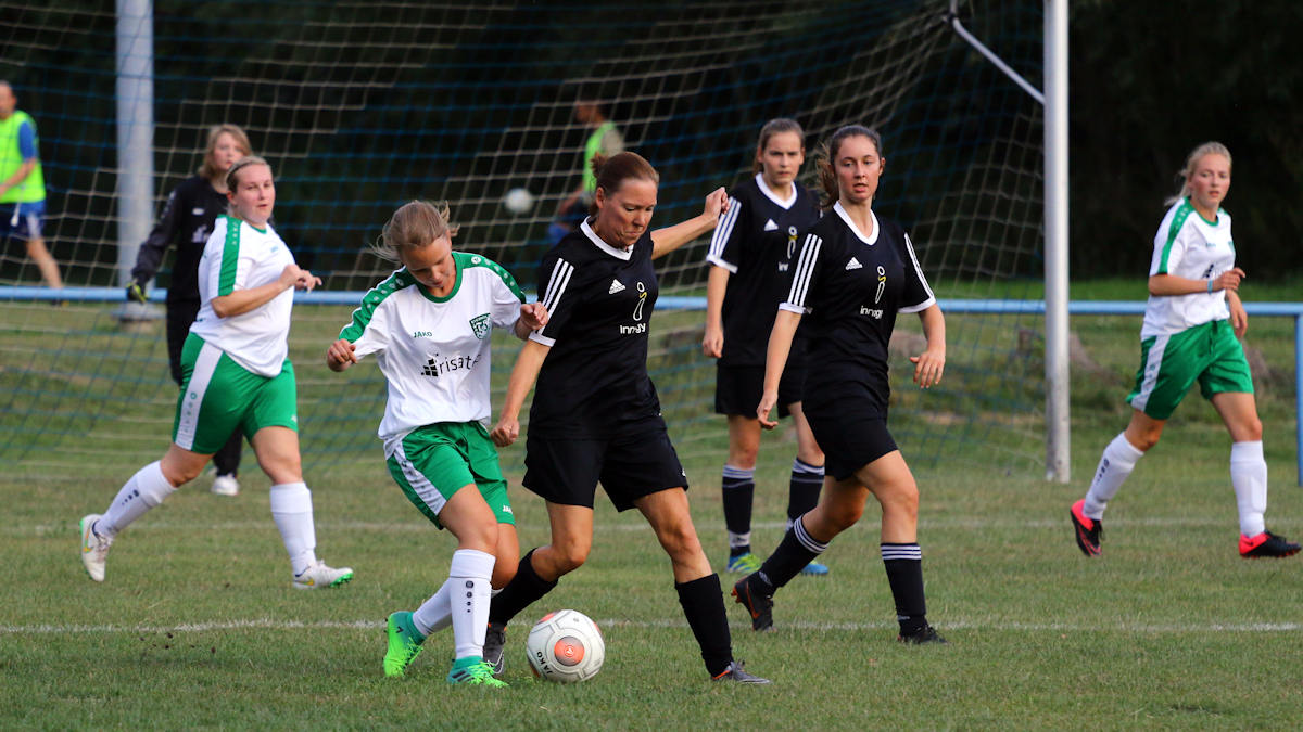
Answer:
[{"label": "blonde player in white and green wearing red-and-black shoes", "polygon": [[1100,554],[1104,509],[1158,444],[1162,427],[1195,382],[1230,432],[1230,483],[1239,507],[1239,555],[1290,556],[1299,544],[1267,530],[1267,462],[1253,378],[1238,336],[1248,330],[1239,301],[1244,271],[1235,266],[1230,215],[1221,208],[1230,190],[1230,151],[1200,145],[1186,159],[1181,191],[1153,237],[1149,302],[1140,326],[1140,369],[1127,395],[1131,422],[1104,448],[1085,498],[1070,511],[1076,546]]}]

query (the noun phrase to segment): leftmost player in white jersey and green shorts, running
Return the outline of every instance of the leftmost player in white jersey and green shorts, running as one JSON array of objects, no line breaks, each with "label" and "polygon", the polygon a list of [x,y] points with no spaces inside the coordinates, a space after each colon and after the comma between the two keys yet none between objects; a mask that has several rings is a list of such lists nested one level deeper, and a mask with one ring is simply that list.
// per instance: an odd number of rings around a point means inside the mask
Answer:
[{"label": "leftmost player in white jersey and green shorts, running", "polygon": [[300,270],[267,224],[276,202],[271,167],[245,156],[227,172],[231,208],[216,220],[199,260],[203,305],[181,353],[184,383],[176,404],[172,445],[163,460],[141,468],[103,514],[81,520],[86,573],[104,581],[108,548],[119,531],[193,481],[218,449],[241,431],[271,478],[271,516],[289,552],[292,585],[334,587],[353,578],[314,552],[313,498],[298,457],[294,367],[289,350],[293,290],[321,284]]}]

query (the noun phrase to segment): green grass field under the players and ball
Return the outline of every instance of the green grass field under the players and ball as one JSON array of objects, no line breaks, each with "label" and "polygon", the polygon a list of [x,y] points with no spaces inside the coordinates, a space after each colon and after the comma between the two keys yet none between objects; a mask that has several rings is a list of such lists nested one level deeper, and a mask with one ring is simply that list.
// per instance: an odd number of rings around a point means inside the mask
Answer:
[{"label": "green grass field under the players and ball", "polygon": [[[1298,300],[1287,296],[1274,300]],[[952,337],[976,327],[966,323],[951,320]],[[162,453],[168,419],[151,415],[142,429],[159,436],[106,449],[113,453],[106,464],[36,451],[0,475],[0,582],[9,594],[0,610],[0,728],[1296,727],[1303,556],[1239,559],[1227,439],[1197,395],[1114,500],[1104,556],[1078,552],[1067,507],[1126,422],[1119,402],[1135,367],[1138,322],[1074,318],[1072,327],[1098,371],[1074,371],[1071,485],[1046,483],[1035,468],[975,468],[972,455],[916,466],[929,617],[950,646],[894,642],[870,505],[829,550],[830,577],[800,577],[778,595],[778,632],[752,633],[730,603],[736,656],[774,685],[714,685],[653,534],[636,513],[599,503],[589,563],[509,629],[509,689],[450,688],[448,632],[427,641],[408,679],[387,680],[384,616],[413,608],[443,581],[452,541],[386,475],[371,438],[379,413],[361,419],[365,458],[309,468],[318,554],[357,570],[351,585],[321,593],[289,587],[267,481],[249,455],[238,498],[208,494],[201,478],[119,538],[103,585],[85,577],[77,520],[103,509],[132,464]],[[1268,525],[1298,539],[1291,333],[1293,323],[1256,319],[1250,344],[1283,374],[1259,387],[1272,470]],[[42,337],[61,336],[52,327]],[[158,352],[150,353],[156,369]],[[498,359],[509,363],[508,353]],[[950,352],[955,367],[960,358]],[[296,363],[304,361],[296,356]],[[16,373],[13,363],[7,370]],[[14,383],[7,386],[33,387]],[[306,400],[348,395],[305,366],[300,383]],[[698,445],[685,460],[689,498],[715,561],[724,550],[722,427],[704,419],[675,434]],[[782,434],[764,444],[757,548],[782,535],[792,449]],[[523,447],[509,448],[504,464],[519,465],[521,455]],[[546,541],[546,517],[512,472],[521,544],[534,546]],[[722,580],[727,587],[735,577]],[[590,615],[607,642],[603,671],[576,686],[536,683],[525,662],[529,623],[562,607]]]}]

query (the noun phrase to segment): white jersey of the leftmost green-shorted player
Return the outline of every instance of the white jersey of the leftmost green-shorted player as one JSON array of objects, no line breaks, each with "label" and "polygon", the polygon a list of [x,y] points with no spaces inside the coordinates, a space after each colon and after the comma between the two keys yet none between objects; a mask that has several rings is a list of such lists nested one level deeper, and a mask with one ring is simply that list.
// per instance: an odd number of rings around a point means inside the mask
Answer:
[{"label": "white jersey of the leftmost green-shorted player", "polygon": [[220,348],[232,361],[261,376],[275,376],[289,353],[289,311],[294,289],[248,313],[219,318],[212,298],[280,279],[294,255],[267,224],[255,229],[231,216],[218,216],[199,258],[199,314],[190,332]]}]

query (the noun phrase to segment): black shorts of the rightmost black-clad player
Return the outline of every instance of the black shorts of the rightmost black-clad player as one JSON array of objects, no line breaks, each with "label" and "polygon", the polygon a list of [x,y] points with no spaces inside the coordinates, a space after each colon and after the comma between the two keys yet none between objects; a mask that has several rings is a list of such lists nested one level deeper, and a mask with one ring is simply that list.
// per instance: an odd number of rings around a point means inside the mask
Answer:
[{"label": "black shorts of the rightmost black-clad player", "polygon": [[843,393],[816,404],[807,400],[801,410],[814,432],[814,442],[823,448],[823,470],[837,481],[899,449],[887,431],[886,413],[876,409],[864,395]]}]

